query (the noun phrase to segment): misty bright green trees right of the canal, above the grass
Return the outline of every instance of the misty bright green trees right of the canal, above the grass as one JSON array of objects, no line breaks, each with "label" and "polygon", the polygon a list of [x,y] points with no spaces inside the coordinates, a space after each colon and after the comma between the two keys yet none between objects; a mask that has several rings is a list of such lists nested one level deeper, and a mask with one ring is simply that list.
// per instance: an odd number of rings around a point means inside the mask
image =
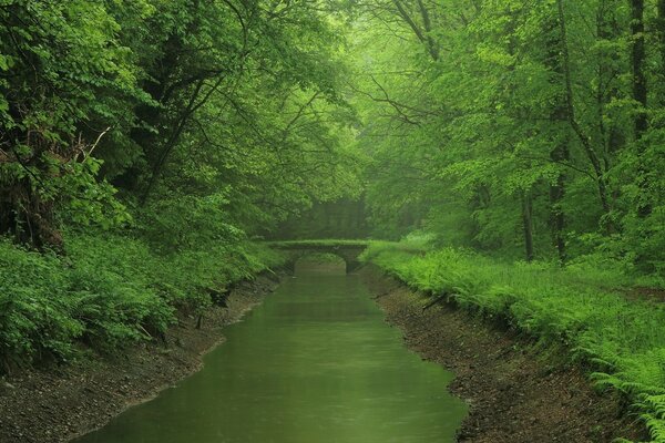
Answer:
[{"label": "misty bright green trees right of the canal, above the grass", "polygon": [[377,236],[663,271],[665,3],[366,8],[354,89]]}]

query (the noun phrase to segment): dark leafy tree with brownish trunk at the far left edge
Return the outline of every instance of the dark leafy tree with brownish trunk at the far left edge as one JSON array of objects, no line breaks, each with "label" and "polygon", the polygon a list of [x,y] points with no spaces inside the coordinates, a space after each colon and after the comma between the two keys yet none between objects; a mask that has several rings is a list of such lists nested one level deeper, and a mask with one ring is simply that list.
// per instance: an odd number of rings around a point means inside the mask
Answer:
[{"label": "dark leafy tree with brownish trunk at the far left edge", "polygon": [[6,1],[0,20],[0,230],[60,246],[61,206],[84,223],[119,217],[104,212],[117,209],[113,188],[94,178],[95,138],[79,128],[104,115],[89,131],[99,141],[123,121],[119,102],[146,97],[103,3]]}]

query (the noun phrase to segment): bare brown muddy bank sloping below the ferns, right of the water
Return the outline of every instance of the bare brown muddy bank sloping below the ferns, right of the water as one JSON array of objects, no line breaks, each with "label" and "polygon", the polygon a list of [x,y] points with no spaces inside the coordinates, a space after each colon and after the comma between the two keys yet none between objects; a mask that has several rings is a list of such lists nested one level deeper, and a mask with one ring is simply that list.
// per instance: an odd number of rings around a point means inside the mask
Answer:
[{"label": "bare brown muddy bank sloping below the ferns, right of the water", "polygon": [[538,350],[514,331],[437,305],[381,276],[361,270],[387,320],[402,329],[407,346],[456,374],[451,392],[471,411],[459,442],[600,443],[645,440],[616,399],[597,394],[577,368]]}]

